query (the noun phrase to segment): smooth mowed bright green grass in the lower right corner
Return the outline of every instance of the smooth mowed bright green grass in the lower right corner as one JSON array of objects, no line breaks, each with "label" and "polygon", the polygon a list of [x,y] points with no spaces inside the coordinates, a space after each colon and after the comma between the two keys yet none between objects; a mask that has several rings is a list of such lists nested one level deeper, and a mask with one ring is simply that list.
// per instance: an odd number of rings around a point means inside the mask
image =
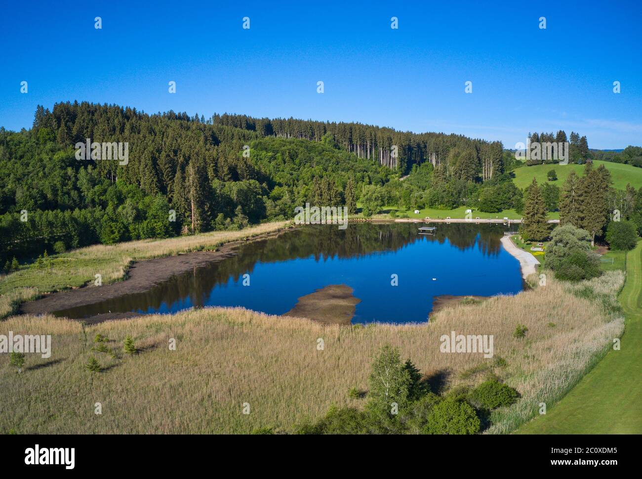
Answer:
[{"label": "smooth mowed bright green grass in the lower right corner", "polygon": [[642,241],[627,253],[627,278],[618,299],[626,318],[621,349],[611,350],[546,415],[517,432],[642,433]]}]

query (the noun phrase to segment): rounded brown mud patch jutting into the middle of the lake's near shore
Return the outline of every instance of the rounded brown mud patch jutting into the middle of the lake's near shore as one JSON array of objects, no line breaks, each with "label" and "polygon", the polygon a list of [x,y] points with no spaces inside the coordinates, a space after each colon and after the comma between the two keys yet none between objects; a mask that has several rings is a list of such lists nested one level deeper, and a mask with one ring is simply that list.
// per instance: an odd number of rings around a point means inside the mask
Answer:
[{"label": "rounded brown mud patch jutting into the middle of the lake's near shore", "polygon": [[324,324],[349,325],[355,306],[361,302],[352,296],[354,290],[345,284],[331,284],[314,293],[301,296],[297,305],[283,316],[308,318]]}]

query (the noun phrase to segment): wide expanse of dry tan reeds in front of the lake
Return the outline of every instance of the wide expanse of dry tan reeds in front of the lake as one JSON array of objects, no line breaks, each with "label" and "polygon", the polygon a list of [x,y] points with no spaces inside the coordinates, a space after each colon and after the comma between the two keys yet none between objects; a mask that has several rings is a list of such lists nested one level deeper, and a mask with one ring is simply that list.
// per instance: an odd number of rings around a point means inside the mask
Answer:
[{"label": "wide expanse of dry tan reeds in front of the lake", "polygon": [[[604,283],[605,284],[602,284]],[[603,294],[614,294],[621,272],[606,273]],[[594,282],[598,285],[598,282]],[[606,293],[604,293],[606,292]],[[555,323],[550,327],[548,323]],[[514,338],[518,323],[526,338]],[[507,432],[532,416],[539,402],[552,404],[620,336],[623,319],[600,303],[571,294],[554,281],[516,296],[444,309],[429,325],[322,326],[298,318],[267,316],[245,309],[200,309],[174,316],[142,316],[85,327],[53,317],[13,317],[8,330],[53,334],[53,356],[28,355],[26,366],[49,363],[18,375],[0,358],[0,432],[19,433],[243,433],[259,426],[287,429],[317,419],[331,404],[360,406],[349,388],[367,388],[372,357],[386,343],[400,348],[422,372],[444,372],[449,386],[474,384],[483,374],[461,373],[491,365],[482,354],[447,354],[440,336],[493,334],[495,357],[507,361],[494,371],[523,394],[496,414],[490,432]],[[132,334],[144,350],[110,359],[94,353],[100,332],[122,350]],[[177,339],[177,350],[168,348]],[[324,350],[317,350],[317,339]],[[105,367],[85,370],[95,355]],[[122,354],[120,354],[123,356]],[[59,361],[59,362],[56,362]],[[101,402],[102,415],[94,415]],[[242,413],[243,403],[250,414]]]}]

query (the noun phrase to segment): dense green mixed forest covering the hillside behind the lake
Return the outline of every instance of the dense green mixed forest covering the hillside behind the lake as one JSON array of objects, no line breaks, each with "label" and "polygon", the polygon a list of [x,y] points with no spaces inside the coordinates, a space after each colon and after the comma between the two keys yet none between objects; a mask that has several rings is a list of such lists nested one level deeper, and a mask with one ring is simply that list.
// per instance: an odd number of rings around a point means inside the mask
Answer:
[{"label": "dense green mixed forest covering the hillside behind the lake", "polygon": [[[586,137],[577,138],[582,158]],[[104,146],[103,154],[78,155],[87,139],[126,143],[128,160]],[[350,213],[359,202],[365,215],[385,205],[521,211],[523,192],[510,175],[521,164],[499,142],[455,134],[236,114],[206,120],[87,102],[39,106],[31,129],[0,129],[0,266],[97,242],[290,219],[306,202]],[[556,208],[559,192],[548,194]]]}]

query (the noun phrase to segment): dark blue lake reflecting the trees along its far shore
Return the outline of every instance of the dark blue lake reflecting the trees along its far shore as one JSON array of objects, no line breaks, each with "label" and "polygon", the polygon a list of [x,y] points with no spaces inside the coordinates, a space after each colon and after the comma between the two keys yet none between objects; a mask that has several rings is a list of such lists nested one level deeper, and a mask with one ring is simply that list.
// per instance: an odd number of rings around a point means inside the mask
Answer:
[{"label": "dark blue lake reflecting the trees along its far shore", "polygon": [[[519,262],[499,242],[501,224],[350,223],[302,226],[241,244],[238,255],[177,275],[146,293],[56,312],[168,313],[190,307],[243,306],[284,314],[297,298],[345,284],[361,300],[352,323],[425,322],[442,294],[493,296],[523,289]],[[392,285],[396,275],[397,284]],[[249,285],[244,285],[248,284]]]}]

